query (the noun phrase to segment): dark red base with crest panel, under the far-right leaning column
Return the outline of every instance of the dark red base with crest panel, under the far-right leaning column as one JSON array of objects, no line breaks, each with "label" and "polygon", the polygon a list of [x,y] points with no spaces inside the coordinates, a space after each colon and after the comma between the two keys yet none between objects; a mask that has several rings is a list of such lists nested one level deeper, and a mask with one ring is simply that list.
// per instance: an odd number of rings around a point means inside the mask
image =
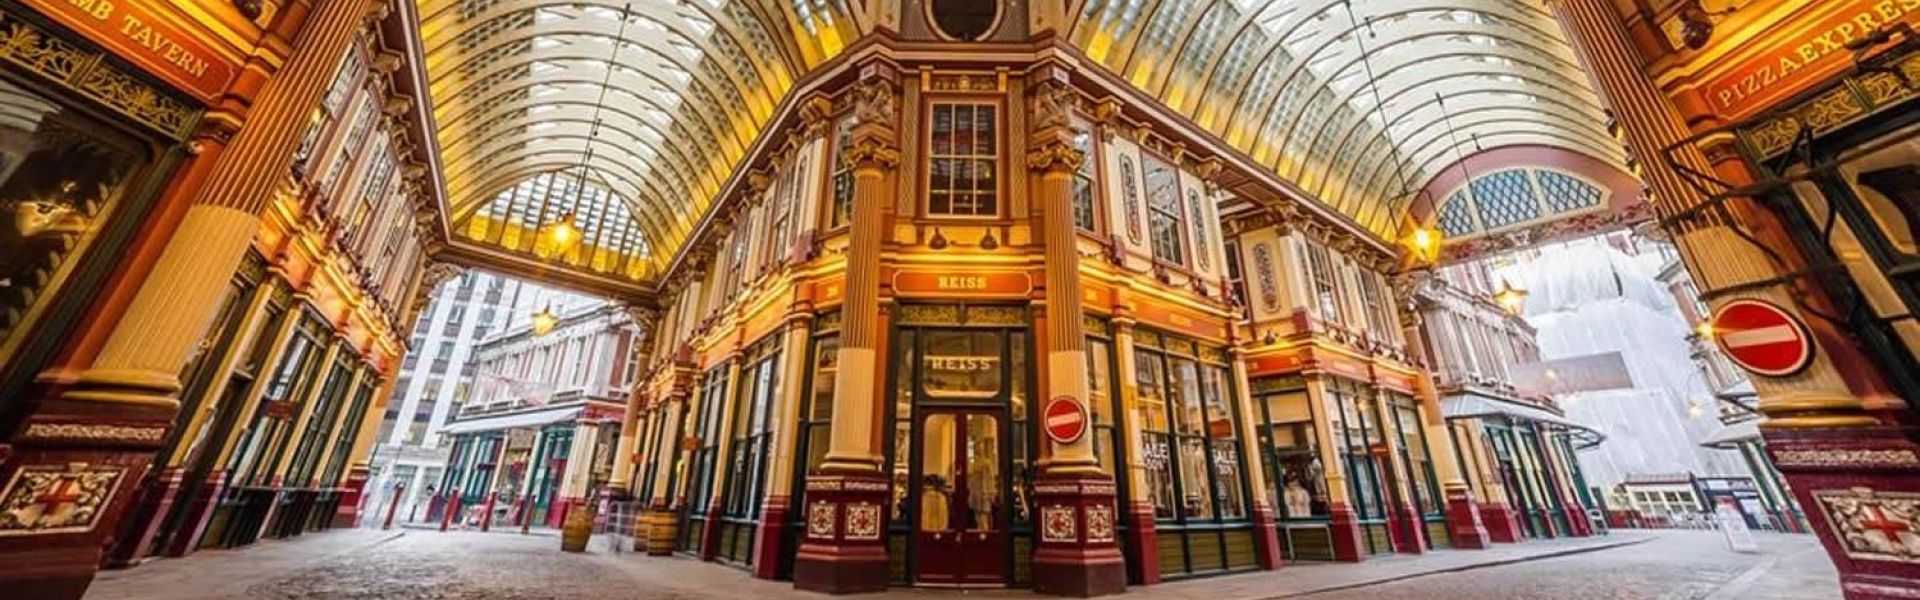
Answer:
[{"label": "dark red base with crest panel, under the far-right leaning column", "polygon": [[1761,429],[1849,600],[1920,598],[1920,444],[1897,427]]}]

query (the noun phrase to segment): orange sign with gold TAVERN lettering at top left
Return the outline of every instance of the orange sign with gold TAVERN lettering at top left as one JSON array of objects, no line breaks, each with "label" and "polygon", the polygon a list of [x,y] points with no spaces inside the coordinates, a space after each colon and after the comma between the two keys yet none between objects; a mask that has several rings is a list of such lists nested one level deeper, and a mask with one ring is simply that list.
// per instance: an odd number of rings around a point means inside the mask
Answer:
[{"label": "orange sign with gold TAVERN lettering at top left", "polygon": [[167,83],[213,100],[227,92],[236,67],[213,46],[173,25],[152,0],[23,0],[86,38],[138,63]]}]

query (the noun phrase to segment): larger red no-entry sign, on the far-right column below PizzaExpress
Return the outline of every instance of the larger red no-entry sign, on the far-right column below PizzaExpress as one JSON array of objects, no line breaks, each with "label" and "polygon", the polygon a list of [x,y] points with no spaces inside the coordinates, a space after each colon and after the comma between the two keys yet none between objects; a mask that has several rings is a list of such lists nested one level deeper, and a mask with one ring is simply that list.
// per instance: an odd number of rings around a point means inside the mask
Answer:
[{"label": "larger red no-entry sign, on the far-right column below PizzaExpress", "polygon": [[1734,300],[1713,312],[1713,340],[1741,369],[1788,377],[1812,363],[1812,335],[1799,317],[1761,300]]}]

